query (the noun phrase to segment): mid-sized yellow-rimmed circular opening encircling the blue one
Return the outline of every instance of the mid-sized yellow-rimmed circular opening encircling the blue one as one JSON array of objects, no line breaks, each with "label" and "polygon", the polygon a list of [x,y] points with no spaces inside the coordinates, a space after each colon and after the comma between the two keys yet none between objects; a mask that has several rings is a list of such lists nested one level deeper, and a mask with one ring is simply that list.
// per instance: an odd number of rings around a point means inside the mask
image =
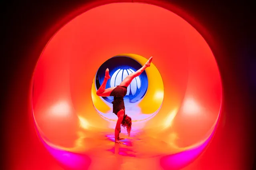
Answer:
[{"label": "mid-sized yellow-rimmed circular opening encircling the blue one", "polygon": [[[117,116],[113,114],[112,101],[113,96],[99,97],[96,91],[99,89],[105,78],[105,70],[109,69],[111,78],[107,81],[106,89],[116,87],[131,73],[139,70],[143,64],[137,60],[147,61],[146,58],[136,54],[116,55],[105,61],[98,69],[94,78],[95,83],[92,85],[93,105],[99,115],[105,120],[110,121],[111,128],[115,128]],[[154,85],[150,85],[151,79],[158,80]],[[146,95],[147,93],[147,95]],[[127,87],[125,95],[125,114],[132,117],[133,130],[145,127],[145,123],[153,118],[161,108],[163,103],[163,81],[155,65],[147,68],[138,77],[135,77]],[[151,106],[143,103],[151,103]]]}]

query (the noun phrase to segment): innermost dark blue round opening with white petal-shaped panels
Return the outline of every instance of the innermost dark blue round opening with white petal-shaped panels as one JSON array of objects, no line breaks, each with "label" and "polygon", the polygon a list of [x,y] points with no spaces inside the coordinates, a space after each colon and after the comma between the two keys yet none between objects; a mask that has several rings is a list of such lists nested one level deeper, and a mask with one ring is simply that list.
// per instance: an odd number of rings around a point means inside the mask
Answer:
[{"label": "innermost dark blue round opening with white petal-shaped panels", "polygon": [[[97,89],[103,83],[105,77],[105,69],[109,68],[109,75],[111,76],[110,80],[107,82],[106,89],[110,87],[116,87],[131,73],[139,70],[142,67],[140,63],[136,60],[125,57],[125,56],[116,56],[105,61],[101,67],[99,67],[96,78],[95,85]],[[125,101],[129,103],[136,103],[140,101],[145,93],[147,92],[148,81],[147,74],[145,71],[141,73],[138,77],[135,77],[131,84],[127,87],[127,94],[125,95]],[[108,103],[113,101],[113,97],[102,97]]]}]

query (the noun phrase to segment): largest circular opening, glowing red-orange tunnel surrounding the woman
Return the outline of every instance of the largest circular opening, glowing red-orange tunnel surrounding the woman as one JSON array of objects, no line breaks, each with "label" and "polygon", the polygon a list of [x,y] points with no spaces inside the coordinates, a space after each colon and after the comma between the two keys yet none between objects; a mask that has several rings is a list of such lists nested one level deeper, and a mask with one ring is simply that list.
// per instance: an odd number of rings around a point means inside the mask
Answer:
[{"label": "largest circular opening, glowing red-orange tunnel surrounding the woman", "polygon": [[[145,92],[137,83],[136,92],[130,88],[126,97],[130,103],[139,101],[148,118],[152,111],[154,116],[141,123],[143,119],[134,115],[132,119],[139,121],[133,123],[131,138],[117,148],[110,144],[115,121],[102,116],[111,105],[95,92],[97,75],[101,81],[99,66],[124,52],[118,56],[140,65],[154,56],[150,73],[139,77]],[[115,69],[122,67],[122,75],[125,69],[137,69],[113,64]],[[116,81],[117,76],[112,77]],[[64,166],[93,168],[93,162],[105,161],[104,167],[110,169],[115,161],[111,156],[119,150],[129,158],[159,156],[157,166],[181,168],[202,152],[214,133],[222,85],[209,45],[185,20],[154,5],[115,3],[77,16],[52,37],[36,66],[32,89],[38,136]],[[67,151],[74,159],[63,161]],[[153,167],[153,161],[135,164]]]}]

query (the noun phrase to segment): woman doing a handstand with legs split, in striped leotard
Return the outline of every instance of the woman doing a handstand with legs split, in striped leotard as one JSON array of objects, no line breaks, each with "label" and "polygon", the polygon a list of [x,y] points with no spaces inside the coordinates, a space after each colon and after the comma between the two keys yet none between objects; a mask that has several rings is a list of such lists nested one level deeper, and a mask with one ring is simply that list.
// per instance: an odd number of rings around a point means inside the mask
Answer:
[{"label": "woman doing a handstand with legs split, in striped leotard", "polygon": [[119,138],[119,133],[121,131],[121,125],[127,129],[128,136],[130,136],[131,132],[131,117],[125,115],[125,103],[123,101],[123,97],[125,97],[127,93],[127,87],[131,83],[131,81],[141,75],[141,73],[150,66],[150,63],[152,61],[153,57],[150,57],[149,60],[141,67],[139,70],[137,70],[134,73],[131,73],[125,79],[121,82],[120,85],[117,87],[111,87],[111,88],[106,88],[106,84],[108,79],[110,79],[109,76],[109,69],[106,69],[105,71],[105,78],[104,81],[97,90],[97,95],[102,96],[102,97],[107,97],[107,96],[113,96],[114,101],[112,102],[113,104],[113,113],[117,115],[118,120],[117,120],[117,125],[115,127],[115,142],[117,143],[122,143],[119,140],[122,140],[123,138]]}]

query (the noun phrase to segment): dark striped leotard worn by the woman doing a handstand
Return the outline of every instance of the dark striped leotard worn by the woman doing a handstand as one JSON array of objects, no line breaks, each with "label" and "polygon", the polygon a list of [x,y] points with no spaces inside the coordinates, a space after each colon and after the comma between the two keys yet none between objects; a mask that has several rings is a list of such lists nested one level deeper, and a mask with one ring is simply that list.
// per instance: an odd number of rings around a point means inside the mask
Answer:
[{"label": "dark striped leotard worn by the woman doing a handstand", "polygon": [[123,97],[125,97],[127,93],[127,87],[125,86],[117,86],[113,91],[110,93],[110,96],[114,97],[113,104],[113,113],[117,115],[122,109],[125,109],[125,102],[123,101]]}]

